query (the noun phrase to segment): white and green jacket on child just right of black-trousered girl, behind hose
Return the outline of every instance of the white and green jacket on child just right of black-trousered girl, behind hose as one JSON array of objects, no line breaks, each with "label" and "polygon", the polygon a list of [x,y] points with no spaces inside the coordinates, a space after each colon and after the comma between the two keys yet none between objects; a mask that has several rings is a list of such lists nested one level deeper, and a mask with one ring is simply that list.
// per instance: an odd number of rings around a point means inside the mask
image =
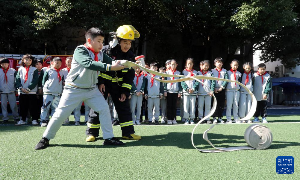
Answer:
[{"label": "white and green jacket on child just right of black-trousered girl, behind hose", "polygon": [[[195,71],[194,69],[192,70],[194,76],[197,75],[197,71]],[[175,73],[174,73],[175,74]],[[182,73],[180,75],[185,75],[185,76],[191,76],[191,72],[188,72],[186,69],[184,69],[182,71]],[[182,94],[183,95],[197,95],[197,91],[198,91],[198,86],[199,86],[199,82],[195,81],[195,80],[187,80],[187,81],[182,81],[181,82],[181,87],[182,87]],[[188,91],[192,89],[194,92],[193,93],[188,93]]]}]

